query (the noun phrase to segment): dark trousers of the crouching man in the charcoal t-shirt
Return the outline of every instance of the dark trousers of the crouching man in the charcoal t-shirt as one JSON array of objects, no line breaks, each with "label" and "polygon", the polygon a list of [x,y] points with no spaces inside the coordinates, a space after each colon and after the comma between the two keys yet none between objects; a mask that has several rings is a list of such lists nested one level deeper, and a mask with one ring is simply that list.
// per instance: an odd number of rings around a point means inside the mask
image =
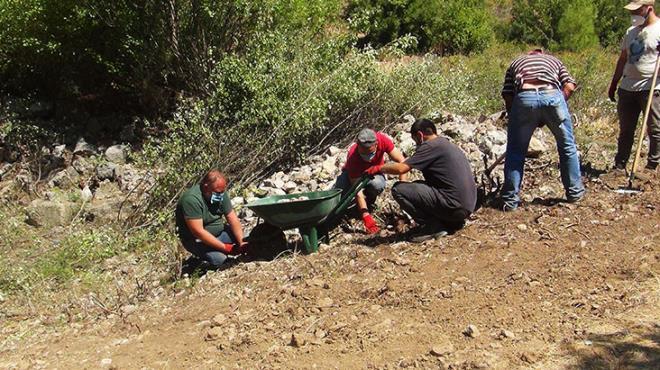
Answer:
[{"label": "dark trousers of the crouching man in the charcoal t-shirt", "polygon": [[470,212],[449,205],[446,196],[424,181],[397,182],[392,196],[402,210],[421,225],[440,223],[446,228],[458,230],[465,225]]}]

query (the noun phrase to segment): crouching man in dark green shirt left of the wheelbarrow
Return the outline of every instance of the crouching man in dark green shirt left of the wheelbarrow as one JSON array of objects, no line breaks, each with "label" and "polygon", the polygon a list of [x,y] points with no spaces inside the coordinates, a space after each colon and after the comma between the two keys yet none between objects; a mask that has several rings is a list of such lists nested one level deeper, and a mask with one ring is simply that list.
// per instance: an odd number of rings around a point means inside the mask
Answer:
[{"label": "crouching man in dark green shirt left of the wheelbarrow", "polygon": [[217,169],[211,170],[199,184],[181,195],[176,207],[181,244],[214,269],[223,267],[228,255],[243,254],[247,249],[243,228],[226,189],[225,176]]}]

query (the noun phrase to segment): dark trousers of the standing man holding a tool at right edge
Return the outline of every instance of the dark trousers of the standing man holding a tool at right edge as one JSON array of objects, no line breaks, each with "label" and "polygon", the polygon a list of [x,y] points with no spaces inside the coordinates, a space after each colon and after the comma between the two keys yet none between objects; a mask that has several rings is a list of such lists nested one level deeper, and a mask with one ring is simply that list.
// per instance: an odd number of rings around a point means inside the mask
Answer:
[{"label": "dark trousers of the standing man holding a tool at right edge", "polygon": [[[648,91],[627,91],[619,89],[619,147],[614,161],[617,165],[625,166],[630,159],[635,131],[639,116],[644,113],[649,98]],[[647,121],[649,134],[649,167],[655,167],[660,162],[660,91],[653,92],[651,112]]]}]

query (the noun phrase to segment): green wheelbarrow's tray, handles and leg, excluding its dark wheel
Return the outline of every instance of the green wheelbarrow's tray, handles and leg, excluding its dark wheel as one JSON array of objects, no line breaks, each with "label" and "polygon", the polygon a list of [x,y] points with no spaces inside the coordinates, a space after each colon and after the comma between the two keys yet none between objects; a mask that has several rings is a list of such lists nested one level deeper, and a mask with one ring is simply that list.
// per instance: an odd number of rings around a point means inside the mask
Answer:
[{"label": "green wheelbarrow's tray, handles and leg, excluding its dark wheel", "polygon": [[341,196],[341,189],[276,195],[247,205],[266,223],[281,230],[298,229],[307,253],[318,252],[320,242],[330,242],[329,232],[337,227],[357,193],[371,181],[362,176]]}]

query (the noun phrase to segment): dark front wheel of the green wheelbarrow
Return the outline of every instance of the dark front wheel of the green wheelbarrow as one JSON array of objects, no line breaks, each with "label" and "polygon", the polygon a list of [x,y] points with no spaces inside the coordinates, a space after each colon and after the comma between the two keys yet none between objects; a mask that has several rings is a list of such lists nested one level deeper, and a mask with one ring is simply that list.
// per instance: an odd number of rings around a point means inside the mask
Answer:
[{"label": "dark front wheel of the green wheelbarrow", "polygon": [[247,241],[247,255],[252,260],[271,261],[283,252],[291,250],[284,231],[268,223],[255,226]]}]

